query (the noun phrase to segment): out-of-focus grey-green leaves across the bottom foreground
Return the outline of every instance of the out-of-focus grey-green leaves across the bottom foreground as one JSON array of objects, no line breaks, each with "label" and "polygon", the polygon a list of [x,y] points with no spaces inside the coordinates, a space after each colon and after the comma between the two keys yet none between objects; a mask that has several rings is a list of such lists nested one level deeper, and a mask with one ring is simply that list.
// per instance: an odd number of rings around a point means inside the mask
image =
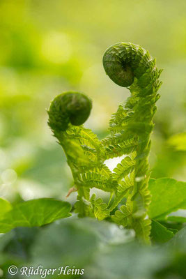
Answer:
[{"label": "out-of-focus grey-green leaves across the bottom foreground", "polygon": [[[72,217],[40,229],[14,229],[1,236],[0,264],[3,278],[8,278],[10,264],[17,264],[20,269],[22,266],[36,268],[39,263],[43,269],[57,271],[59,266],[69,266],[69,269],[75,266],[84,269],[87,279],[166,279],[170,273],[172,278],[183,279],[185,235],[182,229],[166,246],[142,246],[134,241],[131,230],[105,221]],[[46,278],[59,276],[54,273]]]}]

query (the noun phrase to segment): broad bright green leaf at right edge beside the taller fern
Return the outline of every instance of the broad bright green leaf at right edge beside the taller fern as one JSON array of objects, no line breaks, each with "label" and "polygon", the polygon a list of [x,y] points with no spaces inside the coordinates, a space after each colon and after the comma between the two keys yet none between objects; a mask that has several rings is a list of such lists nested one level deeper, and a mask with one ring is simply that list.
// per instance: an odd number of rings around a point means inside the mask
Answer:
[{"label": "broad bright green leaf at right edge beside the taller fern", "polygon": [[162,220],[165,216],[178,209],[186,209],[186,182],[175,179],[150,179],[149,190],[152,202],[148,216]]}]

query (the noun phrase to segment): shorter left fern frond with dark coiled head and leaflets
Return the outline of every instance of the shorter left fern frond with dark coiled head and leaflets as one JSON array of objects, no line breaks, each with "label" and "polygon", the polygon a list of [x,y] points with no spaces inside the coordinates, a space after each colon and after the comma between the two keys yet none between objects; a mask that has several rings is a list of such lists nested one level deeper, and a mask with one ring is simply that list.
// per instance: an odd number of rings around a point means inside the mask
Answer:
[{"label": "shorter left fern frond with dark coiled head and leaflets", "polygon": [[82,126],[91,107],[91,100],[83,93],[69,91],[56,96],[48,110],[48,124],[63,147],[81,200],[89,200],[90,188],[111,190],[111,172],[103,163],[102,144]]}]

